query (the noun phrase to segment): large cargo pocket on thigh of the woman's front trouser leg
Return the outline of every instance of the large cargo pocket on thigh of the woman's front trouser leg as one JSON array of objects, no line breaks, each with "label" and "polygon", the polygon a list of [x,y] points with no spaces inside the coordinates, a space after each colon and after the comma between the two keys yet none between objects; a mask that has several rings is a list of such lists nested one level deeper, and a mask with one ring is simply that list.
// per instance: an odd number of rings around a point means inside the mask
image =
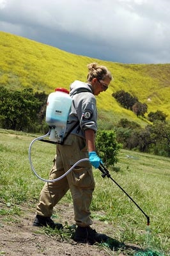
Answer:
[{"label": "large cargo pocket on thigh of the woman's front trouser leg", "polygon": [[93,173],[86,167],[76,166],[71,172],[72,184],[80,188],[94,188]]}]

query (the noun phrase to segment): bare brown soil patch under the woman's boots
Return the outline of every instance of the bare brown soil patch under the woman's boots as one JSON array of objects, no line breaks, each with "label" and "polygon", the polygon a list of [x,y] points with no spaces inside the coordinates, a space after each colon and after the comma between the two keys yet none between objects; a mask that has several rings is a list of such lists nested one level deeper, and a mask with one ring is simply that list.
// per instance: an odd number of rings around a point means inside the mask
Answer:
[{"label": "bare brown soil patch under the woman's boots", "polygon": [[[0,203],[0,207],[5,207]],[[20,206],[19,206],[20,207]],[[35,218],[33,208],[20,207],[21,216],[0,216],[0,255],[10,256],[107,256],[107,255],[130,255],[134,246],[127,245],[123,252],[120,248],[109,249],[98,244],[89,245],[75,243],[71,238],[62,239],[59,236],[48,236],[42,232],[42,228],[33,227],[32,223]],[[73,224],[72,205],[62,204],[56,209],[59,223],[68,225]],[[111,236],[112,226],[102,221],[93,221],[93,228],[97,232],[102,232]],[[112,236],[111,236],[112,237]],[[112,237],[114,238],[114,237]],[[132,255],[132,254],[131,254]]]}]

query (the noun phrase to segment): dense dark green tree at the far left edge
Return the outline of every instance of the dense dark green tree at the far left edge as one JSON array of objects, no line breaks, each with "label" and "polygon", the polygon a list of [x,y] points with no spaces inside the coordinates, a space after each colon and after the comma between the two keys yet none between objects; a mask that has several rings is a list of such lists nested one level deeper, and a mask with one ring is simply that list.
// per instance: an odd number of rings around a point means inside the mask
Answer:
[{"label": "dense dark green tree at the far left edge", "polygon": [[32,89],[9,91],[1,88],[1,127],[17,131],[31,131],[37,120],[41,102]]}]

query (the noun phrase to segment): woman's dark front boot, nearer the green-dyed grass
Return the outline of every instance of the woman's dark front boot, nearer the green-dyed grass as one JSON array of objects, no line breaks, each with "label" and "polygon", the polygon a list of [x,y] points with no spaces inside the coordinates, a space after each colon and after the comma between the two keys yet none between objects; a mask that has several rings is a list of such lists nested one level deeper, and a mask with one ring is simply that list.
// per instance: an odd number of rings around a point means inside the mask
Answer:
[{"label": "woman's dark front boot, nearer the green-dyed grass", "polygon": [[105,234],[99,234],[91,227],[77,227],[73,240],[79,243],[104,243],[107,241]]}]

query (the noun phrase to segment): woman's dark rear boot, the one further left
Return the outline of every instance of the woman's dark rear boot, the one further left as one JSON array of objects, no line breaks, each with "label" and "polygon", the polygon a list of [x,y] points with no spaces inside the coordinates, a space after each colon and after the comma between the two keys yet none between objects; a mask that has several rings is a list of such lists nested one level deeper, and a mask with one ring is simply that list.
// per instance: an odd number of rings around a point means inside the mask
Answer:
[{"label": "woman's dark rear boot, the one further left", "polygon": [[43,217],[37,214],[33,222],[33,227],[47,227],[47,226],[49,226],[52,229],[57,228],[58,230],[63,228],[62,224],[54,223],[54,221],[51,220],[50,217]]}]

